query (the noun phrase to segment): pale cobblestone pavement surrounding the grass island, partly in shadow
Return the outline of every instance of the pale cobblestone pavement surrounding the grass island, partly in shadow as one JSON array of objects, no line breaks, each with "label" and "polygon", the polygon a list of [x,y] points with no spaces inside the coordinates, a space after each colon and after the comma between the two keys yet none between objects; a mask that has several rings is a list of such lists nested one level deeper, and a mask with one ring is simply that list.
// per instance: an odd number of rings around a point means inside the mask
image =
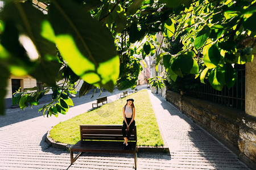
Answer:
[{"label": "pale cobblestone pavement surrounding the grass island, partly in shadow", "polygon": [[[120,93],[103,92],[102,96],[114,101]],[[170,153],[139,153],[137,169],[248,169],[236,155],[162,97],[148,94]],[[84,153],[70,164],[68,151],[45,142],[52,126],[88,111],[96,98],[97,95],[92,99],[73,99],[76,107],[57,118],[37,113],[42,105],[27,109],[26,113],[19,108],[7,109],[6,116],[0,117],[0,169],[133,169],[132,154]]]}]

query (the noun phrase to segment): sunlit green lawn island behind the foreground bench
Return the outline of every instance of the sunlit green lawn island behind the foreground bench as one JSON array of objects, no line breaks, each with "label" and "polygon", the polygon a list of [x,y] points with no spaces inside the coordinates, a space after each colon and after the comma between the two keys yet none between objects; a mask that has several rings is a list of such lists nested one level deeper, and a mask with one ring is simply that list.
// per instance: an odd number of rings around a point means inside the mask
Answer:
[{"label": "sunlit green lawn island behind the foreground bench", "polygon": [[128,98],[134,99],[136,108],[137,145],[163,146],[163,139],[147,90],[138,91],[123,99],[102,105],[102,107],[93,111],[60,122],[50,131],[51,138],[57,142],[75,144],[80,140],[79,125],[121,125],[123,121],[122,107],[126,104]]}]

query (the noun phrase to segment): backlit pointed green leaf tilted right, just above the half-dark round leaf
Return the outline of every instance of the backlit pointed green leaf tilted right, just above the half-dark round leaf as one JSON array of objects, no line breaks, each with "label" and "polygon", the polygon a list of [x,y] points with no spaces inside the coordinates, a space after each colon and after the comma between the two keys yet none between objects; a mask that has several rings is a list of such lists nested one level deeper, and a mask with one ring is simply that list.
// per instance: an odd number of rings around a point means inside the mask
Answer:
[{"label": "backlit pointed green leaf tilted right, just above the half-dark round leaf", "polygon": [[196,39],[194,41],[194,46],[196,49],[199,49],[201,46],[204,45],[204,43],[207,41],[208,37],[210,35],[210,28],[208,25],[205,25],[199,33],[196,35]]}]

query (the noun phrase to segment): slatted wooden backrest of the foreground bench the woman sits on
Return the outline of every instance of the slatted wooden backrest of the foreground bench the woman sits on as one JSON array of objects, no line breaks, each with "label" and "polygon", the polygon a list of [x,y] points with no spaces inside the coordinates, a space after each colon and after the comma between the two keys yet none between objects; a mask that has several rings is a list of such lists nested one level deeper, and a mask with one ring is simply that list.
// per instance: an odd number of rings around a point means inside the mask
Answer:
[{"label": "slatted wooden backrest of the foreground bench the woman sits on", "polygon": [[[81,140],[123,141],[122,125],[80,125]],[[129,141],[137,142],[136,125]]]}]

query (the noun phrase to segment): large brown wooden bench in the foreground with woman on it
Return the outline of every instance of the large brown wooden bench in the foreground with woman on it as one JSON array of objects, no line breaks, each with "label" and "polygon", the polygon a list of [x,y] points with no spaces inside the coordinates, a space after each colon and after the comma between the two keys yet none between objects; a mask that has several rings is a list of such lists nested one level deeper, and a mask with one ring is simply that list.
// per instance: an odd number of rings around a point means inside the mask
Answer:
[{"label": "large brown wooden bench in the foreground with woman on it", "polygon": [[[134,154],[134,168],[137,168],[137,130],[136,125],[129,138],[129,150],[123,150],[122,125],[80,125],[81,140],[70,148],[71,164],[82,152],[117,152]],[[93,141],[92,141],[93,140]],[[73,157],[73,152],[79,154]]]}]

